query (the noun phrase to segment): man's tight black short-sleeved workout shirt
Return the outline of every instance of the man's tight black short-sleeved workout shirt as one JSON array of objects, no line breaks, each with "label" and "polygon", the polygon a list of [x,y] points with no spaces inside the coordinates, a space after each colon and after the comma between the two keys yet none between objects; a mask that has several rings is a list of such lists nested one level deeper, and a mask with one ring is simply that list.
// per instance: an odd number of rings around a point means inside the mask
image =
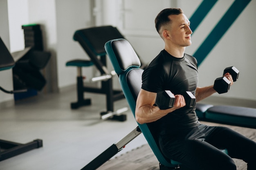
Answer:
[{"label": "man's tight black short-sleeved workout shirt", "polygon": [[[176,58],[163,50],[149,64],[142,75],[142,89],[157,93],[170,90],[174,95],[191,91],[195,95],[198,85],[197,61],[185,54]],[[158,134],[171,134],[198,126],[195,108],[180,108],[152,123]]]}]

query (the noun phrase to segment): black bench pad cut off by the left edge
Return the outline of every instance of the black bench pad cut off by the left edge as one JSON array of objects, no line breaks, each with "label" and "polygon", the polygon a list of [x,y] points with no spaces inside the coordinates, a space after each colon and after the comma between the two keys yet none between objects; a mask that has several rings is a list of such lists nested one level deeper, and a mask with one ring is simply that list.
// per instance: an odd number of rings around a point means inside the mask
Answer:
[{"label": "black bench pad cut off by the left edge", "polygon": [[11,68],[14,64],[13,57],[0,37],[0,70]]}]

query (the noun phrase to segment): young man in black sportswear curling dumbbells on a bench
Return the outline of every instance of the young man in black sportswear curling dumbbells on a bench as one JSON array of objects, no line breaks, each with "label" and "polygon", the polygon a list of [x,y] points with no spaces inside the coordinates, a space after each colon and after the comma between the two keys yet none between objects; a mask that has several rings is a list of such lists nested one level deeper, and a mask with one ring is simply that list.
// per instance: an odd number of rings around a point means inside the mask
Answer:
[{"label": "young man in black sportswear curling dumbbells on a bench", "polygon": [[[148,123],[163,154],[194,170],[236,170],[232,158],[247,162],[256,170],[256,143],[226,127],[200,124],[195,108],[185,107],[182,94],[191,91],[197,102],[216,91],[213,86],[198,87],[197,61],[184,53],[191,45],[190,22],[182,9],[164,9],[155,18],[155,27],[165,46],[142,75],[135,117]],[[224,75],[231,85],[229,73]],[[160,110],[157,92],[170,90],[175,95],[173,108]],[[226,155],[218,148],[227,148]]]}]

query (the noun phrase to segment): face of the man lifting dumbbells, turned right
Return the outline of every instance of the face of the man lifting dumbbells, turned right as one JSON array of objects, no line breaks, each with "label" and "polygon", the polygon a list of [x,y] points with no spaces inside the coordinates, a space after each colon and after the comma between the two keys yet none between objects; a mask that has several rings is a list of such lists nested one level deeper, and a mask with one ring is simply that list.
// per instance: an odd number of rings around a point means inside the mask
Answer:
[{"label": "face of the man lifting dumbbells, turned right", "polygon": [[176,46],[190,46],[191,45],[191,34],[190,21],[186,18],[183,13],[179,15],[170,15],[172,23],[170,26],[169,36],[170,41]]}]

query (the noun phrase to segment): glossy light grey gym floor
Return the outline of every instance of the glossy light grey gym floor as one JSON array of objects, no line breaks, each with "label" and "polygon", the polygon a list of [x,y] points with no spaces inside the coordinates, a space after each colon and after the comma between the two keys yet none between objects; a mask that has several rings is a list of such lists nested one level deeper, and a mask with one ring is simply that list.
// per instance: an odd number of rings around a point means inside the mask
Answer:
[{"label": "glossy light grey gym floor", "polygon": [[[92,99],[92,105],[77,110],[70,109],[70,102],[76,101],[75,87],[23,99],[15,106],[1,106],[0,139],[22,144],[42,139],[43,147],[0,161],[0,170],[80,170],[137,127],[130,110],[126,121],[101,121],[100,112],[106,111],[105,95],[85,96]],[[237,100],[222,101],[238,106]],[[213,97],[205,103],[223,104],[222,101]],[[255,101],[239,100],[239,104],[255,107]],[[115,102],[115,109],[126,106],[126,99]],[[139,135],[115,156],[146,143]]]}]

